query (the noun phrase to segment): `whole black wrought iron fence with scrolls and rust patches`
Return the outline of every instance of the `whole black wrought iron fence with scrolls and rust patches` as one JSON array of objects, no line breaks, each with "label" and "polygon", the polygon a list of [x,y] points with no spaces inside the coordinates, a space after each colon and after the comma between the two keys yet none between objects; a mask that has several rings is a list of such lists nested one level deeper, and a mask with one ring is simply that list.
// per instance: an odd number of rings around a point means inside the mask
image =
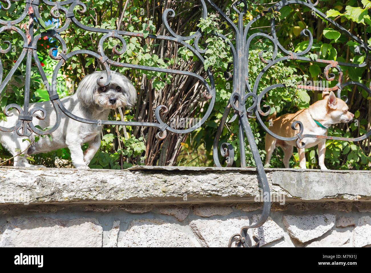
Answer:
[{"label": "whole black wrought iron fence with scrolls and rust patches", "polygon": [[[18,0],[13,0],[18,1]],[[264,198],[264,206],[263,206],[263,212],[260,220],[251,225],[251,226],[244,226],[242,227],[240,233],[234,234],[229,242],[229,246],[232,246],[233,243],[236,243],[236,246],[249,246],[250,243],[247,240],[247,230],[250,228],[256,228],[259,226],[262,226],[266,220],[268,219],[269,212],[270,212],[270,189],[269,184],[267,181],[267,177],[265,174],[264,166],[262,163],[262,160],[260,158],[259,151],[257,149],[255,139],[253,136],[252,129],[250,127],[249,118],[255,118],[257,122],[262,126],[262,128],[266,131],[266,133],[270,134],[271,136],[285,141],[290,140],[296,140],[296,145],[299,148],[305,147],[305,143],[303,143],[301,140],[303,138],[321,138],[321,139],[333,139],[333,140],[348,140],[348,141],[360,141],[364,140],[367,137],[371,135],[371,130],[368,131],[366,134],[364,134],[361,137],[357,138],[347,138],[347,137],[333,137],[333,136],[317,136],[317,135],[311,135],[311,134],[303,134],[303,124],[300,121],[294,121],[292,123],[292,129],[298,130],[297,126],[299,126],[299,132],[293,136],[293,137],[282,137],[279,136],[272,131],[268,127],[265,126],[264,122],[262,121],[261,116],[268,116],[270,113],[270,107],[267,107],[267,110],[263,112],[260,107],[261,100],[263,96],[270,90],[278,88],[278,87],[285,87],[285,84],[273,84],[267,88],[265,88],[263,91],[260,91],[258,94],[258,87],[259,82],[266,73],[266,71],[272,67],[274,64],[282,61],[293,61],[293,60],[302,60],[302,61],[311,61],[311,62],[318,62],[318,63],[326,63],[328,64],[324,69],[324,76],[326,80],[332,81],[335,80],[335,75],[329,73],[330,69],[336,69],[338,71],[338,83],[335,85],[335,87],[326,88],[326,87],[311,87],[311,86],[303,86],[300,85],[298,88],[302,89],[312,89],[312,90],[318,90],[318,91],[337,91],[337,97],[341,97],[341,90],[348,85],[356,85],[361,87],[362,89],[366,90],[368,94],[371,95],[371,90],[367,86],[365,86],[362,83],[356,82],[356,81],[348,81],[343,83],[343,75],[342,70],[340,66],[352,66],[352,67],[363,67],[367,66],[370,68],[369,60],[370,60],[370,50],[371,48],[368,47],[368,45],[359,39],[358,37],[352,35],[349,31],[344,29],[342,26],[337,24],[334,20],[326,18],[327,21],[329,21],[332,25],[337,27],[343,34],[350,37],[352,40],[357,41],[359,45],[357,46],[357,49],[355,50],[357,54],[364,54],[365,60],[362,64],[353,64],[348,62],[338,62],[334,60],[324,60],[324,59],[309,59],[308,57],[304,57],[303,55],[307,54],[312,47],[313,44],[313,37],[311,31],[308,29],[303,29],[301,34],[303,36],[308,37],[309,42],[308,46],[305,50],[299,51],[299,52],[293,52],[286,50],[279,42],[276,31],[275,31],[275,17],[272,17],[270,20],[270,34],[266,33],[254,33],[251,36],[248,36],[248,31],[250,29],[250,26],[255,23],[257,20],[265,16],[265,14],[270,13],[272,11],[279,11],[282,9],[282,7],[287,6],[289,4],[299,4],[303,7],[307,7],[312,10],[312,15],[314,16],[317,14],[321,18],[325,18],[326,15],[322,13],[320,10],[316,9],[316,5],[318,4],[318,1],[315,3],[312,3],[311,0],[307,1],[300,1],[300,0],[282,0],[275,4],[273,4],[272,7],[264,11],[259,16],[253,18],[245,27],[243,26],[243,16],[247,12],[247,3],[244,0],[236,1],[232,5],[232,9],[238,14],[238,20],[237,24],[234,24],[233,21],[230,19],[229,16],[224,13],[223,10],[221,10],[216,4],[213,3],[211,0],[198,0],[201,3],[202,6],[202,17],[207,17],[207,4],[219,13],[219,15],[225,20],[225,22],[232,28],[235,36],[235,46],[232,43],[232,41],[228,40],[226,36],[223,36],[220,33],[213,33],[214,35],[217,35],[224,40],[226,40],[226,43],[230,46],[230,52],[233,56],[233,72],[229,73],[227,72],[225,77],[226,79],[233,79],[233,89],[232,94],[230,96],[229,103],[227,104],[226,109],[224,110],[223,116],[220,120],[220,124],[214,139],[213,144],[213,157],[214,162],[217,167],[221,167],[221,163],[219,161],[219,149],[222,157],[226,157],[227,167],[232,166],[233,159],[234,159],[234,149],[232,144],[230,143],[222,143],[219,145],[219,139],[223,130],[223,127],[226,123],[227,117],[230,113],[230,111],[234,111],[233,118],[229,122],[233,122],[238,118],[238,125],[239,125],[239,150],[240,150],[240,161],[241,161],[241,167],[246,167],[246,157],[245,157],[245,146],[246,143],[244,143],[244,136],[246,135],[247,140],[249,142],[249,147],[251,149],[253,158],[255,160],[256,169],[258,173],[258,180],[260,185],[262,186],[262,192]],[[10,7],[10,0],[1,0],[1,9],[8,10]],[[36,36],[33,35],[33,21],[37,18],[40,18],[39,14],[39,6],[40,4],[46,4],[47,6],[50,6],[50,16],[53,18],[59,18],[62,14],[64,14],[65,17],[65,23],[63,26],[60,26],[56,29],[48,30],[46,32],[43,32],[42,34],[37,34]],[[206,4],[207,3],[207,4]],[[66,0],[66,1],[48,1],[48,0],[26,0],[24,11],[22,15],[15,19],[15,20],[9,20],[4,21],[0,20],[0,25],[2,27],[0,28],[0,33],[3,31],[16,31],[18,34],[20,34],[23,37],[23,49],[22,53],[20,54],[20,58],[14,63],[13,68],[9,71],[9,73],[6,75],[5,79],[0,84],[0,92],[4,90],[4,87],[7,86],[9,83],[10,78],[12,77],[14,71],[17,69],[17,67],[20,65],[22,60],[26,58],[26,75],[25,75],[25,86],[24,86],[24,105],[23,109],[18,104],[9,104],[5,107],[4,113],[9,116],[9,110],[14,108],[19,112],[19,121],[18,123],[11,127],[11,128],[4,128],[0,126],[1,131],[16,131],[16,133],[19,136],[29,136],[32,133],[40,134],[40,135],[46,135],[50,134],[53,131],[55,131],[59,125],[60,125],[60,116],[62,113],[64,113],[66,116],[68,116],[71,119],[81,121],[83,123],[89,123],[89,124],[97,124],[98,122],[101,122],[101,124],[110,124],[110,125],[122,125],[122,126],[152,126],[156,127],[159,131],[156,135],[158,139],[164,139],[166,137],[166,132],[170,131],[173,133],[189,133],[191,131],[196,130],[200,126],[204,124],[204,122],[208,119],[210,116],[211,111],[213,110],[214,103],[215,103],[215,97],[216,97],[216,88],[214,84],[214,78],[213,74],[211,73],[210,69],[207,70],[207,76],[209,79],[210,84],[207,82],[206,79],[199,76],[196,73],[189,72],[189,71],[182,71],[182,70],[172,70],[172,69],[164,69],[164,68],[158,68],[158,67],[150,67],[150,66],[143,66],[143,65],[134,65],[130,63],[121,63],[118,61],[112,60],[110,57],[106,56],[103,50],[103,43],[106,39],[109,37],[118,39],[121,42],[121,45],[116,45],[113,47],[112,52],[113,54],[120,55],[124,53],[127,49],[127,44],[125,42],[125,39],[123,36],[132,36],[132,37],[141,37],[144,38],[142,33],[138,32],[131,32],[131,31],[121,31],[121,30],[110,30],[110,29],[103,29],[98,27],[90,27],[82,24],[78,19],[75,17],[75,7],[78,7],[77,12],[80,14],[84,14],[87,10],[85,4],[78,0]],[[159,39],[159,40],[167,40],[172,41],[174,43],[180,44],[184,47],[186,47],[188,50],[190,50],[197,58],[204,63],[205,59],[202,56],[203,53],[206,52],[206,49],[200,49],[199,47],[199,41],[201,37],[203,37],[203,32],[199,29],[194,34],[190,36],[181,36],[177,34],[173,29],[171,29],[168,18],[173,17],[175,15],[175,11],[173,9],[166,9],[164,10],[162,14],[162,20],[164,23],[164,26],[168,33],[170,33],[169,36],[165,35],[154,35],[149,34],[148,38],[150,39]],[[26,33],[23,32],[22,29],[17,27],[16,25],[19,24],[21,21],[26,19],[26,17],[29,17],[29,28]],[[71,52],[67,52],[66,43],[63,40],[62,36],[60,35],[63,33],[66,29],[69,28],[70,24],[75,24],[79,28],[87,31],[91,31],[93,33],[102,33],[104,34],[101,39],[99,40],[98,44],[98,52],[90,51],[90,50],[74,50]],[[49,37],[55,37],[61,45],[61,50],[59,51],[59,54],[57,56],[53,56],[52,51],[56,50],[55,48],[52,48],[49,50],[49,56],[54,59],[58,60],[58,64],[56,65],[54,69],[54,73],[52,75],[52,84],[49,84],[47,81],[47,77],[45,72],[43,71],[42,64],[40,63],[38,57],[37,57],[37,41],[40,37],[43,36],[49,36]],[[265,67],[260,71],[259,75],[255,79],[254,83],[250,83],[249,81],[249,47],[251,41],[256,37],[264,37],[266,39],[269,39],[273,44],[273,56],[270,60],[263,59],[262,52],[260,52],[260,59],[263,63],[265,63]],[[194,39],[193,45],[187,43],[186,41]],[[8,53],[10,49],[12,48],[12,45],[10,41],[4,41],[5,44],[8,45],[6,49],[0,49],[1,53]],[[283,57],[277,57],[278,51],[280,51],[284,56]],[[88,54],[90,56],[95,57],[99,60],[99,62],[104,66],[104,69],[106,70],[108,77],[106,79],[106,82],[101,82],[99,79],[97,81],[99,86],[106,86],[108,85],[109,81],[111,80],[111,70],[110,66],[117,66],[117,67],[127,67],[131,69],[142,69],[142,70],[150,70],[150,71],[160,71],[164,73],[169,74],[181,74],[181,75],[187,75],[194,77],[198,80],[200,80],[201,83],[203,83],[206,91],[202,94],[203,99],[209,101],[209,106],[207,110],[205,111],[204,116],[200,121],[198,121],[197,124],[194,124],[192,127],[188,129],[178,130],[174,129],[168,124],[166,124],[161,119],[160,111],[163,110],[164,112],[167,111],[167,106],[165,105],[158,105],[155,109],[155,117],[157,119],[157,122],[139,122],[139,121],[101,121],[101,120],[89,120],[89,119],[83,119],[82,117],[75,116],[72,114],[68,109],[63,106],[59,99],[59,95],[56,91],[56,77],[58,75],[58,71],[60,70],[61,66],[72,56],[75,56],[77,54]],[[32,65],[32,59],[35,61],[37,68],[41,74],[42,79],[46,83],[46,89],[49,94],[49,99],[52,101],[57,121],[56,124],[48,129],[48,130],[40,130],[37,129],[33,123],[33,114],[35,114],[37,111],[42,112],[42,116],[39,115],[40,119],[45,119],[46,110],[42,107],[35,107],[32,109],[29,109],[29,100],[30,100],[30,73],[31,73],[31,65]],[[230,66],[229,66],[230,67]],[[3,78],[3,66],[0,61],[0,79]],[[248,98],[252,98],[252,103],[249,104]],[[343,97],[344,99],[344,97]],[[347,101],[347,98],[345,98],[345,101]],[[257,244],[258,246],[259,244]]]}]

